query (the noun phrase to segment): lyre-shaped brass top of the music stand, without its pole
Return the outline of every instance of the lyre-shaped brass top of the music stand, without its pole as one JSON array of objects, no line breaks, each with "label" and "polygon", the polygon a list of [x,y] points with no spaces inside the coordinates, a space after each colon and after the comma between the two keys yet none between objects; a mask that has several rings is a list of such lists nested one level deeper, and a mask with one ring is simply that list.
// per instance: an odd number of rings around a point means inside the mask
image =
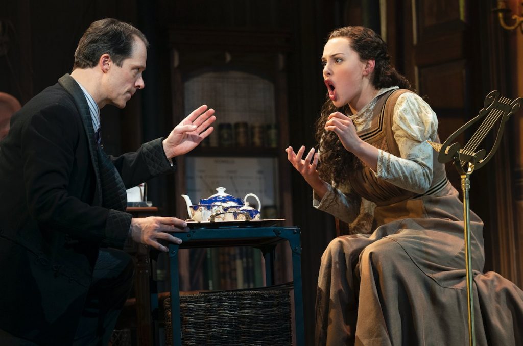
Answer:
[{"label": "lyre-shaped brass top of the music stand, without its pole", "polygon": [[[460,174],[466,174],[475,169],[480,169],[494,156],[499,143],[501,143],[505,122],[513,113],[519,110],[521,102],[523,102],[523,98],[517,98],[513,101],[503,96],[500,97],[499,91],[497,90],[491,91],[491,93],[485,97],[483,109],[480,110],[477,116],[451,134],[445,143],[438,144],[430,141],[427,142],[439,153],[438,161],[440,163],[446,164],[451,160],[454,160],[454,164]],[[483,121],[479,125],[479,128],[463,148],[461,148],[459,143],[454,142],[463,131],[467,130],[472,124],[482,119]],[[498,121],[499,126],[497,129],[496,141],[490,149],[490,152],[487,154],[487,149],[478,149],[478,147]]]}]

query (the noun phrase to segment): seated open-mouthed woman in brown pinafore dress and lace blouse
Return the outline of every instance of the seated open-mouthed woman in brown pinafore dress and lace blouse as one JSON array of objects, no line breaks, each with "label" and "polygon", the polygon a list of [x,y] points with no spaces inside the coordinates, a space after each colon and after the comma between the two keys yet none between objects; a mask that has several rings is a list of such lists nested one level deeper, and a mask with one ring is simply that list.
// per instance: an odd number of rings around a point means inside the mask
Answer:
[{"label": "seated open-mouthed woman in brown pinafore dress and lace blouse", "polygon": [[[316,344],[467,344],[463,205],[427,143],[439,140],[436,114],[370,29],[334,30],[322,62],[321,159],[314,148],[286,151],[314,207],[357,234],[322,256]],[[476,342],[522,344],[523,292],[481,273],[483,223],[472,212],[470,221]]]}]

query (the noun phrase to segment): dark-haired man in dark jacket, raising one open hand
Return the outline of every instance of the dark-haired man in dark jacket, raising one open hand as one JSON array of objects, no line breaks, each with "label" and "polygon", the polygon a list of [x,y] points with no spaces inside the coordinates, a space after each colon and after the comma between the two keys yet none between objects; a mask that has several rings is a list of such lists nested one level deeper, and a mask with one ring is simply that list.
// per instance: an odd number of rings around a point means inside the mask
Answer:
[{"label": "dark-haired man in dark jacket, raising one open hand", "polygon": [[130,236],[167,251],[161,241],[188,230],[174,217],[132,218],[125,189],[173,171],[170,159],[213,131],[214,110],[199,107],[135,153],[108,157],[99,145],[99,108],[123,108],[144,87],[146,47],[131,25],[95,21],[71,75],[13,117],[0,149],[0,344],[107,345],[132,262],[106,246]]}]

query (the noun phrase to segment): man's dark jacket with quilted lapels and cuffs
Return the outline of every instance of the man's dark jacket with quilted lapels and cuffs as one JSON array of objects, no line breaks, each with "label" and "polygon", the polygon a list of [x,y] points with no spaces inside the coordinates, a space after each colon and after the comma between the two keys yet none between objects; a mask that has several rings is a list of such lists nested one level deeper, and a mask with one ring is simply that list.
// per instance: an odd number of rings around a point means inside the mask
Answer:
[{"label": "man's dark jacket with quilted lapels and cuffs", "polygon": [[[13,116],[0,143],[0,329],[36,343],[74,337],[100,246],[122,247],[131,215],[101,205],[96,143],[70,75]],[[172,171],[161,139],[111,158],[126,188]]]}]

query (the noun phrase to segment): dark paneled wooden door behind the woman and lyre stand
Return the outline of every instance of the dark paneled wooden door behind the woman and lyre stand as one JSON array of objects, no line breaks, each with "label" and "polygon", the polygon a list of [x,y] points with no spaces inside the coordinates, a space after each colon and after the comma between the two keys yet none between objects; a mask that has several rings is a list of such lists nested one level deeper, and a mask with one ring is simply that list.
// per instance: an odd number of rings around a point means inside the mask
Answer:
[{"label": "dark paneled wooden door behind the woman and lyre stand", "polygon": [[[493,2],[396,0],[388,4],[386,37],[396,65],[436,112],[442,141],[477,115],[491,90],[510,97],[503,67],[507,47],[491,12]],[[474,130],[458,141],[470,139]],[[491,162],[472,174],[470,202],[485,223],[485,271],[497,271],[521,286],[509,136],[505,134]],[[487,136],[484,145],[492,144],[494,137],[494,133]],[[461,195],[456,169],[448,164],[447,173]]]}]

